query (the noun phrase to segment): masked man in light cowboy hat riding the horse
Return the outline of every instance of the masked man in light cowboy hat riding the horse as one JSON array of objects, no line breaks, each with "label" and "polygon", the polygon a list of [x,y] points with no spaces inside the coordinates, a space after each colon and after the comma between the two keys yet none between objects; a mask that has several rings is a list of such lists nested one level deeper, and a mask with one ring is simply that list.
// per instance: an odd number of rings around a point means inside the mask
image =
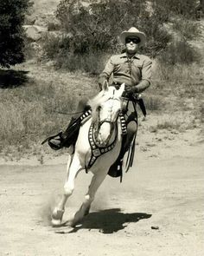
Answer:
[{"label": "masked man in light cowboy hat riding the horse", "polygon": [[[109,174],[114,173],[115,170],[118,170],[120,173],[124,154],[130,148],[131,141],[137,134],[137,113],[134,100],[139,93],[142,93],[150,86],[152,64],[148,56],[137,54],[139,47],[143,46],[146,42],[146,36],[143,32],[132,27],[130,30],[121,33],[120,40],[125,46],[124,53],[112,56],[106,63],[103,72],[99,75],[100,89],[105,81],[109,82],[116,89],[119,89],[120,85],[125,83],[124,97],[128,99],[128,102],[132,102],[132,104],[128,104],[125,115],[127,135],[123,141],[118,160],[110,167]],[[89,106],[86,105],[86,101],[81,101],[78,111],[86,112],[88,109]],[[59,149],[69,147],[70,145],[74,146],[79,134],[80,120],[79,116],[73,118],[64,133],[61,132],[57,136],[49,137],[48,143],[50,147]]]}]

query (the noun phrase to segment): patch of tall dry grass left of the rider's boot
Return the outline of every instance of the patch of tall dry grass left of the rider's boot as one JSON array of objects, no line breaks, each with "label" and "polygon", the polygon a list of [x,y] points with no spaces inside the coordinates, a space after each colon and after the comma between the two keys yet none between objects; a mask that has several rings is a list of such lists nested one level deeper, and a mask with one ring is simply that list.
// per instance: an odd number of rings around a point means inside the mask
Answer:
[{"label": "patch of tall dry grass left of the rider's boot", "polygon": [[33,150],[31,145],[40,144],[48,135],[66,128],[71,115],[57,111],[74,112],[80,98],[78,92],[59,81],[46,82],[46,77],[44,81],[29,80],[16,89],[1,89],[0,151],[5,147],[16,147],[16,151]]}]

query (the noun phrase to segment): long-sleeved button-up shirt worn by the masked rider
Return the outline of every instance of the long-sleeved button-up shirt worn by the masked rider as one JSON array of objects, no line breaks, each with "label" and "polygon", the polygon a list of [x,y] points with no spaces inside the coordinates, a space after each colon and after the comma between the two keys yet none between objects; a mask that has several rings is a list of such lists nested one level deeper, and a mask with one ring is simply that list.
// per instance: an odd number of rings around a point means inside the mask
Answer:
[{"label": "long-sleeved button-up shirt worn by the masked rider", "polygon": [[152,61],[148,56],[138,55],[128,58],[126,53],[112,56],[105,69],[99,75],[99,80],[107,79],[113,75],[114,83],[135,86],[142,80],[150,83]]}]

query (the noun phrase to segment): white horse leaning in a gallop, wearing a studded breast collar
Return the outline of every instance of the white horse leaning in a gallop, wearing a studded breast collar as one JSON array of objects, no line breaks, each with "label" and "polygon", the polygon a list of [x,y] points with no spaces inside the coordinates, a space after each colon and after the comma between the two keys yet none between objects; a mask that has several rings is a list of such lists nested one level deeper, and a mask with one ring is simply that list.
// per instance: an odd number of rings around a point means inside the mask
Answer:
[{"label": "white horse leaning in a gallop, wearing a studded breast collar", "polygon": [[77,174],[86,169],[93,176],[85,200],[73,219],[69,220],[70,226],[75,226],[89,213],[94,196],[105,180],[109,167],[117,160],[122,142],[121,120],[118,116],[122,108],[123,92],[124,84],[117,90],[105,82],[99,95],[89,101],[92,115],[80,127],[74,154],[67,163],[64,194],[52,213],[53,226],[61,226],[65,205],[68,197],[73,194]]}]

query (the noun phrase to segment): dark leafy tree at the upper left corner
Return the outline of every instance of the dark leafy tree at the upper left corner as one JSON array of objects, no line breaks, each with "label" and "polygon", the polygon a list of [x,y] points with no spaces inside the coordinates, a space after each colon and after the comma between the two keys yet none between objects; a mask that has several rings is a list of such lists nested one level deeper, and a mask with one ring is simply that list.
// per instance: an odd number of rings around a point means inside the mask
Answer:
[{"label": "dark leafy tree at the upper left corner", "polygon": [[10,66],[24,61],[25,14],[31,6],[30,0],[0,1],[0,66]]}]

